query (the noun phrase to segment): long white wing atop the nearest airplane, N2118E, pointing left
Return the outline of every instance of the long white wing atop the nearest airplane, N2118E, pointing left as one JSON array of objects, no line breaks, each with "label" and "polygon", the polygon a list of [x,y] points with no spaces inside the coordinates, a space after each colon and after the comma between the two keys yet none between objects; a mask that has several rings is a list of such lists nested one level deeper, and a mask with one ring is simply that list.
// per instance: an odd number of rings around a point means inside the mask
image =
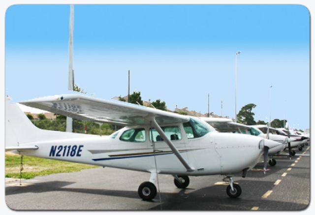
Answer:
[{"label": "long white wing atop the nearest airplane, N2118E, pointing left", "polygon": [[147,125],[149,118],[157,123],[188,122],[189,117],[121,101],[108,101],[84,95],[54,95],[20,102],[21,104],[63,116],[102,123]]}]

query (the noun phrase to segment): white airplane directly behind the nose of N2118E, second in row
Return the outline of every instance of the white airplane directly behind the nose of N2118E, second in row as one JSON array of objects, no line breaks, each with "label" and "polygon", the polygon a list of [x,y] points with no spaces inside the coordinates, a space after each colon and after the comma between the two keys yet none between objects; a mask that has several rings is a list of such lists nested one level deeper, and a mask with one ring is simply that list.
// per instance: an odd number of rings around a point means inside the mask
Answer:
[{"label": "white airplane directly behind the nose of N2118E, second in row", "polygon": [[[205,122],[209,123],[211,126],[213,126],[217,131],[219,132],[231,132],[231,133],[240,133],[240,134],[250,134],[253,136],[259,136],[262,138],[268,139],[267,135],[262,133],[259,129],[241,124],[241,123],[234,123],[231,119],[227,118],[208,118],[208,117],[201,117],[200,119],[204,120]],[[275,141],[277,143],[273,143],[273,145],[278,144],[277,146],[270,148],[269,147],[269,165],[275,166],[277,164],[277,161],[273,158],[274,154],[279,154],[284,150],[286,147],[287,138],[283,136],[273,136],[273,134],[269,134],[269,139],[271,141]],[[268,143],[272,143],[269,141]],[[267,143],[267,144],[268,144]],[[265,143],[265,146],[266,143]]]}]

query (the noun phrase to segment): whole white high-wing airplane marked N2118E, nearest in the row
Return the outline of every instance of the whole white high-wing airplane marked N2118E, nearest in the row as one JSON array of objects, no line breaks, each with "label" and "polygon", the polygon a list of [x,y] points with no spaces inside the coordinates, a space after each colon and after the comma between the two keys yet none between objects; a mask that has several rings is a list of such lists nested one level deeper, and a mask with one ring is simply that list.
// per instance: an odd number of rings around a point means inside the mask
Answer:
[{"label": "whole white high-wing airplane marked N2118E, nearest in the row", "polygon": [[125,125],[110,136],[42,130],[17,104],[6,101],[5,149],[21,155],[149,172],[149,181],[138,187],[143,200],[155,198],[158,174],[172,175],[178,188],[189,185],[189,176],[224,175],[223,181],[229,183],[228,196],[239,197],[242,189],[233,183],[232,176],[242,173],[245,177],[261,154],[277,146],[261,137],[219,133],[195,117],[126,102],[71,94],[21,103],[80,120]]}]

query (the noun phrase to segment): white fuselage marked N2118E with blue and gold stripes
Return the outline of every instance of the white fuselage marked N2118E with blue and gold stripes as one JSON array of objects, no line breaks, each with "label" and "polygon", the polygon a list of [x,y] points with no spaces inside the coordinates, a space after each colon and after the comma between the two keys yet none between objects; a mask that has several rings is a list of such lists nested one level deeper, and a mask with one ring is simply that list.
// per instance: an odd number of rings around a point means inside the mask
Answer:
[{"label": "white fuselage marked N2118E with blue and gold stripes", "polygon": [[[264,141],[260,137],[213,130],[194,138],[183,123],[161,127],[195,171],[187,172],[149,126],[125,127],[110,136],[72,134],[71,138],[28,143],[24,145],[36,145],[38,150],[21,154],[144,172],[157,168],[162,174],[216,175],[252,168],[263,153]],[[128,135],[136,136],[130,141]]]}]

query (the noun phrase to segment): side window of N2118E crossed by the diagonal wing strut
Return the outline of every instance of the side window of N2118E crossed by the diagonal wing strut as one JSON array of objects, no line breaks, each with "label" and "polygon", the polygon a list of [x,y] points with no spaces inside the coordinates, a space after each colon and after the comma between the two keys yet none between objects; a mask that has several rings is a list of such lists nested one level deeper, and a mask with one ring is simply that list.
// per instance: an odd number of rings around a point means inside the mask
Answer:
[{"label": "side window of N2118E crossed by the diagonal wing strut", "polygon": [[[164,131],[165,135],[168,137],[168,139],[170,139],[171,141],[182,139],[182,134],[179,129],[179,126],[165,126],[161,128]],[[158,134],[158,131],[154,128],[150,129],[149,136],[150,136],[150,141],[152,141],[152,136],[153,136],[154,142],[164,141],[163,138]]]}]

